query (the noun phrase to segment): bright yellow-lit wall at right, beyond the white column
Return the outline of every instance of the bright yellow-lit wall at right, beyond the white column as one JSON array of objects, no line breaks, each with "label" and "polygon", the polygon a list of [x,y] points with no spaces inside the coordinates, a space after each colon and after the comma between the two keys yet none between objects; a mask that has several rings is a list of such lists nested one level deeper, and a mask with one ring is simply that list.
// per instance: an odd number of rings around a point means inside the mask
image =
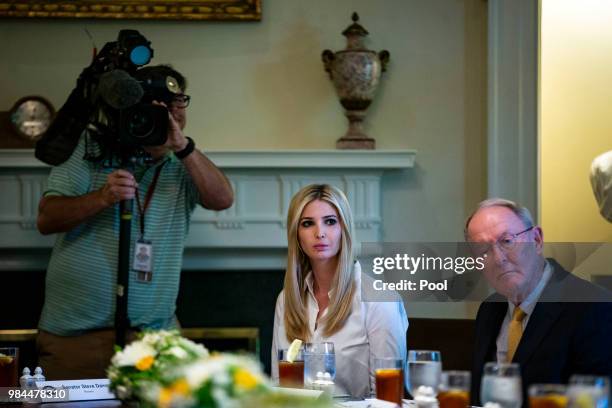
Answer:
[{"label": "bright yellow-lit wall at right, beyond the white column", "polygon": [[612,3],[543,0],[541,220],[548,241],[612,242],[589,183],[612,149]]}]

